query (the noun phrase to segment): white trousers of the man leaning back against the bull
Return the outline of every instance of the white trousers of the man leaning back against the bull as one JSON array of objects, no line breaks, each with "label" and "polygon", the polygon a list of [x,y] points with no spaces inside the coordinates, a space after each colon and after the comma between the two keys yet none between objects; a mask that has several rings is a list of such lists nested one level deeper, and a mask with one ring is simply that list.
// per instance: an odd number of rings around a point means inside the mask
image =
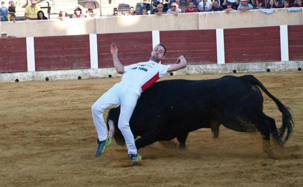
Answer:
[{"label": "white trousers of the man leaning back against the bull", "polygon": [[94,123],[100,141],[107,138],[107,127],[103,118],[103,112],[113,104],[121,106],[118,128],[124,136],[126,147],[129,154],[136,154],[134,135],[129,126],[129,120],[132,117],[137,100],[142,90],[138,85],[120,82],[105,92],[92,106]]}]

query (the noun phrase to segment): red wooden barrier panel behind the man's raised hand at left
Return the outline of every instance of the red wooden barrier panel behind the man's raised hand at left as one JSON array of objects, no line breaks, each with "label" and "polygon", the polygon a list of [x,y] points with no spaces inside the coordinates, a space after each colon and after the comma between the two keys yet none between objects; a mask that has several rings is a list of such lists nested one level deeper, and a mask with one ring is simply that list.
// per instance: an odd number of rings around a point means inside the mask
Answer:
[{"label": "red wooden barrier panel behind the man's raised hand at left", "polygon": [[152,32],[97,34],[99,68],[114,67],[110,44],[116,43],[123,65],[146,62],[152,51]]}]

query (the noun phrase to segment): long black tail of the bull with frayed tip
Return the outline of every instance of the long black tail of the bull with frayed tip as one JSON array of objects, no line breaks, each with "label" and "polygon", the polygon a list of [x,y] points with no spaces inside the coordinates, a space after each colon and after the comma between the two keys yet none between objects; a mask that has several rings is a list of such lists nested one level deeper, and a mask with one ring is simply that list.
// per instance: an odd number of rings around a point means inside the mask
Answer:
[{"label": "long black tail of the bull with frayed tip", "polygon": [[[290,137],[290,135],[292,133],[292,128],[294,125],[294,121],[292,119],[292,115],[290,113],[289,108],[286,107],[282,102],[280,102],[271,93],[269,93],[269,91],[266,89],[266,87],[258,79],[256,79],[253,75],[244,75],[240,78],[247,81],[251,85],[259,86],[269,96],[269,98],[271,98],[278,106],[280,112],[282,113],[282,126],[278,129],[277,138],[278,138],[278,143],[280,144],[280,146],[283,146],[283,144]],[[284,135],[285,132],[286,132],[286,136]]]}]

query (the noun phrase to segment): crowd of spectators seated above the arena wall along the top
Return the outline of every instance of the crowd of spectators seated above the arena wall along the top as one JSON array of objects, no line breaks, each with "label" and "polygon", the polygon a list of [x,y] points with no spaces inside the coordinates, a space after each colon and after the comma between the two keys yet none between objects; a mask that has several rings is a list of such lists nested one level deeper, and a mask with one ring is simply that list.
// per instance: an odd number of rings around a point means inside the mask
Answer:
[{"label": "crowd of spectators seated above the arena wall along the top", "polygon": [[[302,0],[183,0],[186,7],[181,8],[182,0],[142,0],[140,11],[135,12],[135,7],[129,7],[129,11],[125,13],[118,12],[118,8],[114,8],[113,14],[107,16],[134,16],[147,14],[173,14],[178,16],[179,13],[195,13],[195,12],[214,12],[226,11],[229,13],[233,10],[252,10],[252,9],[271,9],[271,8],[289,8],[303,7]],[[183,9],[183,10],[182,10]],[[6,7],[4,1],[0,7],[0,21],[16,21],[16,6],[14,1],[9,1]],[[83,18],[96,17],[92,9],[87,9],[85,13],[77,6],[74,14],[70,17],[66,10],[59,13],[58,19],[67,18]],[[42,20],[48,19],[40,7],[36,5],[35,0],[31,0],[31,4],[25,6],[24,20]]]}]

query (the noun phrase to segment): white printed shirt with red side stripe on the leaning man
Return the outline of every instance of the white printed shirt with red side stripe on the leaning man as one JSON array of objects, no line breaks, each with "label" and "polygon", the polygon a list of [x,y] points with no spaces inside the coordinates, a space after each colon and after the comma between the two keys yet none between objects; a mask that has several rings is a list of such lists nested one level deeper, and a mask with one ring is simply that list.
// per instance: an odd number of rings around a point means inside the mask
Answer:
[{"label": "white printed shirt with red side stripe on the leaning man", "polygon": [[144,91],[158,79],[168,74],[170,65],[162,65],[153,61],[140,62],[124,67],[122,82],[126,81],[139,85]]}]

